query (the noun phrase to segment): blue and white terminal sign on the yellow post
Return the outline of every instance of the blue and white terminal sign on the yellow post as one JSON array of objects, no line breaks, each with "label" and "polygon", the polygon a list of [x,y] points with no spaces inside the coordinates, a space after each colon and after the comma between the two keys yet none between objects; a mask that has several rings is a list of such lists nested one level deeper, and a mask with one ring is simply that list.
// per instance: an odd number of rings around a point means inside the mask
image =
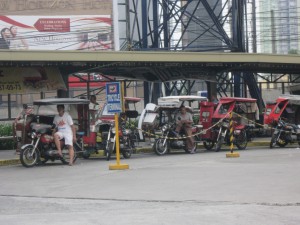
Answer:
[{"label": "blue and white terminal sign on the yellow post", "polygon": [[106,83],[106,102],[108,112],[122,112],[122,94],[120,82]]}]

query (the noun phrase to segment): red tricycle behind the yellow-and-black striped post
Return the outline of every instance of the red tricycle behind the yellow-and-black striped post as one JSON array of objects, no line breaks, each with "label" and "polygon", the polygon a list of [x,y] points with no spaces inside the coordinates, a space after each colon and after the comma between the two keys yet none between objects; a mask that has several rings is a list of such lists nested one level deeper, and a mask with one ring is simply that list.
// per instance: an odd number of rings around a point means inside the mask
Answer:
[{"label": "red tricycle behind the yellow-and-black striped post", "polygon": [[201,102],[199,124],[203,126],[201,139],[207,150],[220,151],[222,144],[230,145],[230,114],[232,113],[233,143],[238,149],[247,147],[250,130],[259,119],[256,99],[222,97],[219,102]]}]

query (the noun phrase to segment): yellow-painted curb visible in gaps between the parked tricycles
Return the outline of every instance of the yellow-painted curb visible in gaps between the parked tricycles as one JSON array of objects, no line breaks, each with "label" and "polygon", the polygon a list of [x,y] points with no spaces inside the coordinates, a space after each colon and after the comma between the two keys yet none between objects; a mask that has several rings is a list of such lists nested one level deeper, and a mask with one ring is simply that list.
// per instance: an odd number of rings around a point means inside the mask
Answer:
[{"label": "yellow-painted curb visible in gaps between the parked tricycles", "polygon": [[[269,142],[249,142],[247,147],[255,146],[269,146]],[[198,145],[199,148],[203,148],[203,145]],[[200,150],[200,149],[199,149]],[[205,150],[205,149],[204,149]],[[136,148],[133,154],[142,154],[142,153],[154,153],[152,146],[145,148]],[[100,158],[104,156],[104,150],[99,150],[98,153],[91,154],[90,158]],[[9,165],[18,165],[21,164],[20,159],[0,159],[0,166],[9,166]]]}]

